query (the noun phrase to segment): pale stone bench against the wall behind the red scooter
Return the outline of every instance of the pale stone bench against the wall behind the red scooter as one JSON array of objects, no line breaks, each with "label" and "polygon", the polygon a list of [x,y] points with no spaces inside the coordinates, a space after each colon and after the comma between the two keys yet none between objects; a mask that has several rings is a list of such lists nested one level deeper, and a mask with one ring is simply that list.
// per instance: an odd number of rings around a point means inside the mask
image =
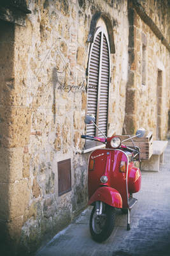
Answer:
[{"label": "pale stone bench against the wall behind the red scooter", "polygon": [[153,140],[153,154],[149,160],[142,160],[140,169],[159,172],[159,164],[164,164],[164,150],[168,141]]}]

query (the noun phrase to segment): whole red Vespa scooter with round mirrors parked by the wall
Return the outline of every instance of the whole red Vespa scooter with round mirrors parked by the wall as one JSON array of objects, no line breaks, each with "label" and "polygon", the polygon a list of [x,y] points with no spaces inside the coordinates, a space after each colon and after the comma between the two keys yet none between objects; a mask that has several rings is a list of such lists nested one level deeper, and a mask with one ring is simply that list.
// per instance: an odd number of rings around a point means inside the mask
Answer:
[{"label": "whole red Vespa scooter with round mirrors parked by the wall", "polygon": [[[94,121],[94,116],[85,116],[86,124],[94,124],[97,127]],[[103,134],[102,131],[101,133]],[[141,128],[136,132],[136,136],[129,136],[129,139],[141,138],[144,134],[145,129]],[[104,137],[81,136],[106,144],[106,148],[96,149],[90,154],[88,164],[88,205],[94,205],[90,216],[90,233],[98,242],[110,237],[115,226],[117,208],[127,213],[127,230],[130,230],[129,210],[137,202],[132,193],[141,188],[141,172],[133,162],[140,161],[139,148],[135,145],[132,148],[122,145],[123,141],[117,136]]]}]

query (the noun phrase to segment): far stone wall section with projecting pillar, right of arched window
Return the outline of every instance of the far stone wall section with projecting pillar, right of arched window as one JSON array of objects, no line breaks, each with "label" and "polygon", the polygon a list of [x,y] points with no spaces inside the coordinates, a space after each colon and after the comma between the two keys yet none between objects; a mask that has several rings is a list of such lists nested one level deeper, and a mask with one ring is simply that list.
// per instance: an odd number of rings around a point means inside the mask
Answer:
[{"label": "far stone wall section with projecting pillar, right of arched window", "polygon": [[[141,13],[136,12],[136,2],[128,2],[129,79],[124,132],[134,134],[138,127],[145,127],[147,132],[153,131],[155,139],[165,140],[169,109],[169,48],[161,44],[162,40],[143,22]],[[142,3],[143,14],[148,15],[148,19],[153,20],[162,36],[169,40],[168,2]]]}]

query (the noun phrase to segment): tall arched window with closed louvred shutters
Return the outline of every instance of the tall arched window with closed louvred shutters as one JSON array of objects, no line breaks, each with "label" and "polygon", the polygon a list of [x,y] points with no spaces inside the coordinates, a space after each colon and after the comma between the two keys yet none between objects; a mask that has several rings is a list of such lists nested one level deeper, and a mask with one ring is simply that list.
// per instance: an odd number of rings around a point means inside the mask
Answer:
[{"label": "tall arched window with closed louvred shutters", "polygon": [[[108,102],[110,88],[110,45],[108,35],[103,27],[96,29],[94,43],[90,46],[87,84],[87,114],[96,117],[96,125],[107,136]],[[92,124],[87,125],[87,136],[104,138],[103,134]],[[85,149],[96,147],[98,141],[87,140]]]}]

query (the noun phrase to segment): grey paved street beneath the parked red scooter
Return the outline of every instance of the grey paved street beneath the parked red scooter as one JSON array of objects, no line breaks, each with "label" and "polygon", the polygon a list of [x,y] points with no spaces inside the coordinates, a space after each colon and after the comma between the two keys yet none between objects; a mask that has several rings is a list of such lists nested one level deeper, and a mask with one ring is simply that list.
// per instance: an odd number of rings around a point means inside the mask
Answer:
[{"label": "grey paved street beneath the parked red scooter", "polygon": [[160,172],[142,172],[138,203],[127,215],[117,210],[115,228],[103,243],[92,240],[89,219],[92,207],[55,236],[36,256],[169,256],[170,255],[170,145],[164,152]]}]

